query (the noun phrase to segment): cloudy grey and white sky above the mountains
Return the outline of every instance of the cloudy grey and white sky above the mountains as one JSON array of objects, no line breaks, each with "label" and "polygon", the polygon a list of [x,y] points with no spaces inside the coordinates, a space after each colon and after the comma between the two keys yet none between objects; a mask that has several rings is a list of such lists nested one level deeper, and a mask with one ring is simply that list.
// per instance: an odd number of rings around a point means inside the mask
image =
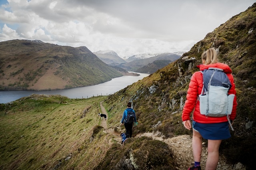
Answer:
[{"label": "cloudy grey and white sky above the mountains", "polygon": [[120,57],[189,51],[256,0],[0,0],[0,42],[41,40]]}]

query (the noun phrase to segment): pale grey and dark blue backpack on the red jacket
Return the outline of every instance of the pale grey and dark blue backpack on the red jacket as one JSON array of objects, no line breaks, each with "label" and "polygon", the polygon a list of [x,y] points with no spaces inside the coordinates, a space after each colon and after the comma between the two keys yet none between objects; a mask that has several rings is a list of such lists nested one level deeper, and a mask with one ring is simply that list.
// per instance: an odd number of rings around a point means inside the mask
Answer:
[{"label": "pale grey and dark blue backpack on the red jacket", "polygon": [[[210,117],[227,116],[228,118],[228,115],[232,113],[235,96],[234,94],[228,95],[232,86],[228,76],[219,68],[210,67],[200,72],[203,74],[203,89],[199,95],[200,113]],[[229,118],[228,122],[230,123]]]}]

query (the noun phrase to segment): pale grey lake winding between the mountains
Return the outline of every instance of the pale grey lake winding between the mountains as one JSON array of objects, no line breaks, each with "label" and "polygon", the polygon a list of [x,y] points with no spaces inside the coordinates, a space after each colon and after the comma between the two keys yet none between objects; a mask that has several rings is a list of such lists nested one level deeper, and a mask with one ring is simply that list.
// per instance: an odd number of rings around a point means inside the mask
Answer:
[{"label": "pale grey lake winding between the mountains", "polygon": [[116,77],[105,83],[98,85],[91,85],[86,87],[75,87],[72,89],[50,90],[50,91],[32,91],[32,90],[19,90],[19,91],[0,91],[0,103],[9,103],[22,97],[32,94],[45,94],[45,95],[62,95],[70,99],[84,99],[98,95],[110,95],[117,91],[124,89],[128,85],[137,82],[138,80],[147,77],[149,74],[138,73],[139,76],[122,76]]}]

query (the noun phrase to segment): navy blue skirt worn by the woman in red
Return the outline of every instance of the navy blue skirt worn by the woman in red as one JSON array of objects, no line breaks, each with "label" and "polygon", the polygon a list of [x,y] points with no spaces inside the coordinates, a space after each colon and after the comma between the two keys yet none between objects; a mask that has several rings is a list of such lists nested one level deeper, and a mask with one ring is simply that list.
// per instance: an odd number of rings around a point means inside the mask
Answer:
[{"label": "navy blue skirt worn by the woman in red", "polygon": [[228,122],[223,123],[197,123],[192,121],[192,127],[199,132],[204,139],[222,140],[231,137]]}]

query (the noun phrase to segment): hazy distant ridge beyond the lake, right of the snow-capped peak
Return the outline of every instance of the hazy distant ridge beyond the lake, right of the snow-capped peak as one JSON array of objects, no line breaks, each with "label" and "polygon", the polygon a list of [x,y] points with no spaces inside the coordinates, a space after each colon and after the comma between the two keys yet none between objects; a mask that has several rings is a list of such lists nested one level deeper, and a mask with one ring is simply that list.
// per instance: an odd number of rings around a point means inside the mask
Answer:
[{"label": "hazy distant ridge beyond the lake, right of the snow-capped peak", "polygon": [[135,71],[135,70],[137,70],[145,65],[148,65],[149,63],[152,63],[156,60],[165,59],[165,60],[175,61],[176,59],[178,59],[180,57],[181,57],[180,55],[177,55],[174,53],[161,53],[154,57],[149,57],[149,58],[145,58],[145,59],[136,59],[129,63],[122,63],[122,64],[118,64],[116,66],[121,67],[127,71]]}]

